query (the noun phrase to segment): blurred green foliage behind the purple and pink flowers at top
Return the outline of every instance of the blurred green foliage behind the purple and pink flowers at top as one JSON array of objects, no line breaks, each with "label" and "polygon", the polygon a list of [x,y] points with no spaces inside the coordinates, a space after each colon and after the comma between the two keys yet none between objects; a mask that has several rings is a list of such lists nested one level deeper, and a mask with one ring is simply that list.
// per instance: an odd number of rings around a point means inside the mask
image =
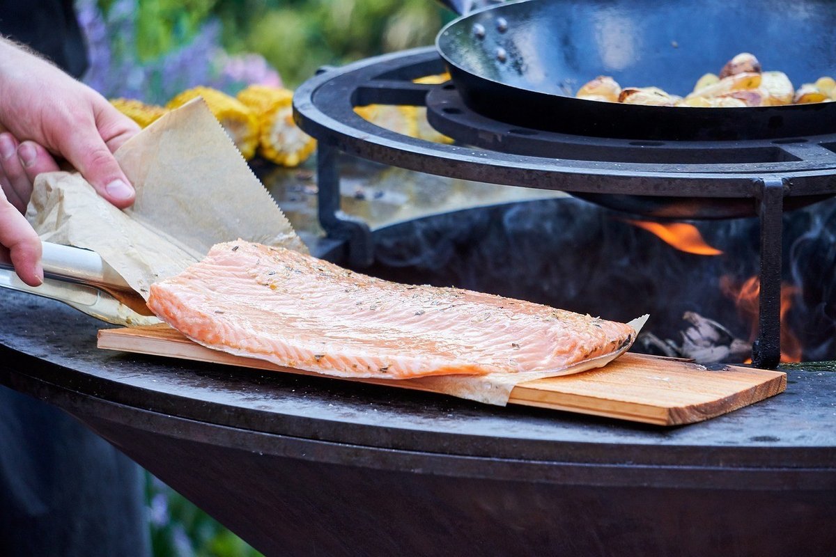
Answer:
[{"label": "blurred green foliage behind the purple and pink flowers at top", "polygon": [[140,60],[188,43],[212,17],[229,53],[262,54],[295,87],[324,64],[431,44],[453,15],[432,0],[140,0]]}]

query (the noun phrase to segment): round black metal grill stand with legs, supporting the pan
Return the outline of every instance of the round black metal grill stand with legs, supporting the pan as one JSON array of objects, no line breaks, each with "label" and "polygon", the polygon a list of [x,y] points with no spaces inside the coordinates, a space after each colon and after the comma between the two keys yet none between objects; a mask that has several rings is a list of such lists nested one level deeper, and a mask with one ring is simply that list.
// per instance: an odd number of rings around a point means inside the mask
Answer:
[{"label": "round black metal grill stand with legs, supporting the pan", "polygon": [[[340,210],[339,153],[431,175],[561,190],[660,222],[757,216],[752,358],[759,367],[777,366],[783,216],[836,194],[836,134],[736,141],[561,134],[478,114],[449,82],[413,82],[444,70],[435,48],[419,48],[324,68],[294,97],[298,124],[319,140],[319,220],[330,237],[347,242],[349,265],[370,266],[375,253],[369,226]],[[426,106],[433,127],[456,144],[380,128],[354,112],[367,104]],[[689,295],[700,294],[682,293]]]}]

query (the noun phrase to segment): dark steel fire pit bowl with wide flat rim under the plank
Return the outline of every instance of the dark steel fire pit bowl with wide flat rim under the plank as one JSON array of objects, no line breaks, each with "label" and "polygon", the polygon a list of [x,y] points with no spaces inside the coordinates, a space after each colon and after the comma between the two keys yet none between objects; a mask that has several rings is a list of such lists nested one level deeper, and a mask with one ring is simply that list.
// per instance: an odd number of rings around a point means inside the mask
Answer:
[{"label": "dark steel fire pit bowl with wide flat rim under the plank", "polygon": [[99,351],[3,292],[0,382],[79,418],[263,553],[832,554],[836,373],[655,428]]}]

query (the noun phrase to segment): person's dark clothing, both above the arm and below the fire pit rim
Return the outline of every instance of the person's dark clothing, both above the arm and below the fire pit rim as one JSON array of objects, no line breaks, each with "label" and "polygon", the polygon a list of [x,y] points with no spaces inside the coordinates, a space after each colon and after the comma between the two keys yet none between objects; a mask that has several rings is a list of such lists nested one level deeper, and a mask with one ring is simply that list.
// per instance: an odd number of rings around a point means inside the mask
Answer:
[{"label": "person's dark clothing, both above the arm and below the fire pit rim", "polygon": [[[75,77],[87,66],[71,0],[0,0],[0,33]],[[149,555],[144,481],[139,466],[81,423],[0,387],[3,557]]]}]

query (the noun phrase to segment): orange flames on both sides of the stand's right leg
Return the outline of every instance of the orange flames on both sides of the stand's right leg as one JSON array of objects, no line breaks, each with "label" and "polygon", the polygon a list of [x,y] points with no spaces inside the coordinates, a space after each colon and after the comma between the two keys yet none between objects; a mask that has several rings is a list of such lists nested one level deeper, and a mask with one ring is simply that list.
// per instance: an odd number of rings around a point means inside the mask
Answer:
[{"label": "orange flames on both sides of the stand's right leg", "polygon": [[[757,336],[757,318],[760,315],[758,300],[761,295],[761,281],[757,276],[751,276],[738,286],[730,276],[720,279],[723,294],[732,298],[737,305],[737,311],[750,322],[749,341]],[[781,283],[781,361],[801,362],[802,347],[798,337],[793,335],[787,326],[787,313],[793,306],[793,296],[798,294],[798,287]]]}]

